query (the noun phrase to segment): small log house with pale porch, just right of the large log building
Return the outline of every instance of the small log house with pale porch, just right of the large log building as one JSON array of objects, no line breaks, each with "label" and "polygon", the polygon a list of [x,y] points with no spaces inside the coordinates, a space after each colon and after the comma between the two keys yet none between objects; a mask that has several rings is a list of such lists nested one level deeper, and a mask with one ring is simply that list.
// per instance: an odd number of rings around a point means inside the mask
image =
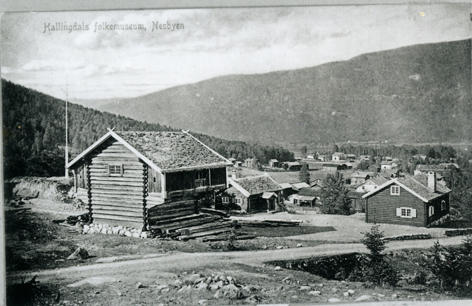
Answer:
[{"label": "small log house with pale porch, just right of the large log building", "polygon": [[[268,175],[231,178],[229,186],[226,192],[246,212],[275,210],[281,201],[282,187]],[[231,200],[223,199],[223,203]]]}]

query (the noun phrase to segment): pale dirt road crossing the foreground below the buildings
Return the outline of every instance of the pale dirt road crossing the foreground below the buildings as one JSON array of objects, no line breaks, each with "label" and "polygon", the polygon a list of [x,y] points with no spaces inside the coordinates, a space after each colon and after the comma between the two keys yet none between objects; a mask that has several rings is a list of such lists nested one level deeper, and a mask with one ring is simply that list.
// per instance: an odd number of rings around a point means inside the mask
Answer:
[{"label": "pale dirt road crossing the foreground below the buildings", "polygon": [[[438,239],[441,245],[459,245],[463,237]],[[430,240],[410,240],[389,242],[386,251],[398,249],[426,249],[436,242]],[[345,254],[351,252],[366,252],[363,244],[324,244],[315,247],[297,249],[276,249],[243,252],[207,252],[207,253],[177,253],[162,254],[153,258],[142,258],[122,262],[76,266],[55,270],[44,270],[29,275],[38,275],[42,284],[59,283],[67,285],[88,277],[106,276],[120,277],[122,281],[136,278],[155,278],[161,272],[174,272],[182,269],[198,269],[211,266],[225,266],[226,264],[245,264],[262,266],[264,262],[273,260],[302,259],[315,256]],[[12,273],[10,280],[18,280],[26,273]]]}]

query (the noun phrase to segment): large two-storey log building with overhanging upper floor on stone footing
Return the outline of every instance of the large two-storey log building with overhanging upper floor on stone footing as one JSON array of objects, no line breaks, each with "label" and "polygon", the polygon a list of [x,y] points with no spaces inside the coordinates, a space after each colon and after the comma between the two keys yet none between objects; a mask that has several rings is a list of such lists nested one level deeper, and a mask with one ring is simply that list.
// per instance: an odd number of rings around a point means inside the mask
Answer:
[{"label": "large two-storey log building with overhanging upper floor on stone footing", "polygon": [[228,188],[232,163],[188,132],[109,132],[66,165],[95,223],[148,229],[197,213],[197,196]]}]

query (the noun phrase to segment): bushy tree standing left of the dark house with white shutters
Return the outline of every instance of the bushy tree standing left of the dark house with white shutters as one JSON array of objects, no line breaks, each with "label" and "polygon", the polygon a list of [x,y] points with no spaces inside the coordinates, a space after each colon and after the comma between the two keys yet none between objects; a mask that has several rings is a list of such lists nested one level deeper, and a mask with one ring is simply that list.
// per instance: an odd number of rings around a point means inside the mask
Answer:
[{"label": "bushy tree standing left of the dark house with white shutters", "polygon": [[326,214],[349,214],[351,200],[348,198],[349,190],[344,184],[344,177],[340,172],[326,175],[323,180],[325,188],[320,199],[320,211]]}]

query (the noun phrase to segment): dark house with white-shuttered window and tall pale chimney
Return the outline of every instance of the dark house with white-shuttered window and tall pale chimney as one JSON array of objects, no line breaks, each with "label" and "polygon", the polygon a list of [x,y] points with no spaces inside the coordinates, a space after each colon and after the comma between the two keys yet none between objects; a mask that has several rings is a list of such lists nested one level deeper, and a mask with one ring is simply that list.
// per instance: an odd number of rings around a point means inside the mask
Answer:
[{"label": "dark house with white-shuttered window and tall pale chimney", "polygon": [[394,178],[364,194],[366,222],[429,227],[449,215],[450,189],[437,184],[436,173]]}]

